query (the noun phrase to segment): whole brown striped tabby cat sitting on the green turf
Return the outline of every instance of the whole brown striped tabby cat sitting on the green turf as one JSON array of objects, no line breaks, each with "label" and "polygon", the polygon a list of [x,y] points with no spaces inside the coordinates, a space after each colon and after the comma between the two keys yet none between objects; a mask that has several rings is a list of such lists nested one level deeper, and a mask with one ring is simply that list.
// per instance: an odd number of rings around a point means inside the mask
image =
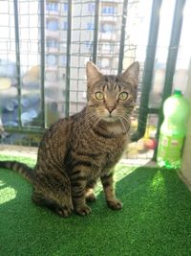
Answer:
[{"label": "whole brown striped tabby cat sitting on the green turf", "polygon": [[117,76],[103,75],[87,63],[87,105],[73,116],[57,121],[44,135],[32,170],[22,163],[1,161],[0,167],[24,175],[33,186],[32,200],[61,217],[74,211],[91,213],[100,178],[107,205],[119,210],[114,167],[128,143],[130,117],[136,103],[139,64]]}]

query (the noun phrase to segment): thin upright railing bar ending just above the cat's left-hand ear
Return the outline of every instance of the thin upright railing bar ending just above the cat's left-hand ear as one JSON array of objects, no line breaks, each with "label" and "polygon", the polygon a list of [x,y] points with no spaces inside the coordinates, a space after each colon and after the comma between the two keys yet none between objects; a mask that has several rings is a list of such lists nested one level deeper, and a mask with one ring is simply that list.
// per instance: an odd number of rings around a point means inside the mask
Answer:
[{"label": "thin upright railing bar ending just above the cat's left-hand ear", "polygon": [[99,6],[100,6],[100,2],[99,0],[96,0],[94,46],[93,46],[93,62],[95,64],[96,64],[97,45],[98,45]]}]

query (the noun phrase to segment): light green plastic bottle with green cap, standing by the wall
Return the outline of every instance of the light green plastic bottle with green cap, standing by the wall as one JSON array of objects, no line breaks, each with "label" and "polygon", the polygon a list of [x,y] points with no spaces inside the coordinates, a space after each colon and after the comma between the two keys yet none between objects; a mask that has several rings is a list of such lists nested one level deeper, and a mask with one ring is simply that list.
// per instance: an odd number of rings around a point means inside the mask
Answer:
[{"label": "light green plastic bottle with green cap, standing by the wall", "polygon": [[175,90],[163,105],[164,121],[159,132],[157,161],[160,167],[179,169],[190,111],[189,102]]}]

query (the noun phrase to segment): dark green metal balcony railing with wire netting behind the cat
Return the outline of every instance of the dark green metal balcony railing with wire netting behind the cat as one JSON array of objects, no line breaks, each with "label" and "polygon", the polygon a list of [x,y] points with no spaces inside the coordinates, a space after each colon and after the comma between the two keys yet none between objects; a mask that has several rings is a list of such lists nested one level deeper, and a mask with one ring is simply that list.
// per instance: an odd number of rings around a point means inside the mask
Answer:
[{"label": "dark green metal balcony railing with wire netting behind the cat", "polygon": [[189,0],[1,1],[2,143],[36,145],[45,128],[79,111],[86,102],[87,60],[109,74],[140,62],[132,139],[151,127],[158,137],[174,75],[183,69],[186,76],[190,6]]}]

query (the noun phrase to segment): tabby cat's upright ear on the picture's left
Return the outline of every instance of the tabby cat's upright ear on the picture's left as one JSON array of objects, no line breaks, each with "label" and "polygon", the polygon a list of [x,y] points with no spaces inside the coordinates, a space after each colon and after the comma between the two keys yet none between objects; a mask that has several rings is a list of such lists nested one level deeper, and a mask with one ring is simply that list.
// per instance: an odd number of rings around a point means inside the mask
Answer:
[{"label": "tabby cat's upright ear on the picture's left", "polygon": [[100,80],[103,75],[92,61],[88,61],[86,64],[86,76],[87,80],[91,83]]}]

